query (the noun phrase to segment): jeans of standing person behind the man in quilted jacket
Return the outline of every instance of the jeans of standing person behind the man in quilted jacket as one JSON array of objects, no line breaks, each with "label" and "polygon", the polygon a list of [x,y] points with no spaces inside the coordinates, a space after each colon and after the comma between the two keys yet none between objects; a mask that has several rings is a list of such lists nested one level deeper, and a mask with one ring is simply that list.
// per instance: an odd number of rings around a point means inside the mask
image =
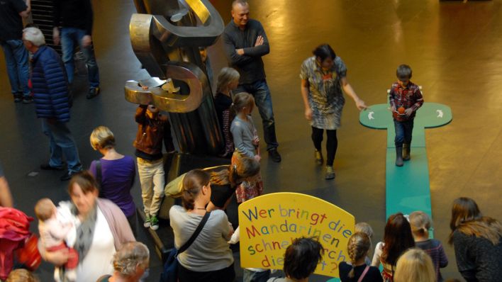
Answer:
[{"label": "jeans of standing person behind the man in quilted jacket", "polygon": [[61,28],[61,49],[62,61],[65,63],[68,82],[71,84],[74,77],[73,53],[75,43],[78,43],[80,50],[84,53],[85,64],[87,65],[87,74],[89,74],[89,86],[94,89],[99,86],[99,68],[94,56],[93,45],[83,47],[82,38],[85,36],[85,30],[79,28]]}]

